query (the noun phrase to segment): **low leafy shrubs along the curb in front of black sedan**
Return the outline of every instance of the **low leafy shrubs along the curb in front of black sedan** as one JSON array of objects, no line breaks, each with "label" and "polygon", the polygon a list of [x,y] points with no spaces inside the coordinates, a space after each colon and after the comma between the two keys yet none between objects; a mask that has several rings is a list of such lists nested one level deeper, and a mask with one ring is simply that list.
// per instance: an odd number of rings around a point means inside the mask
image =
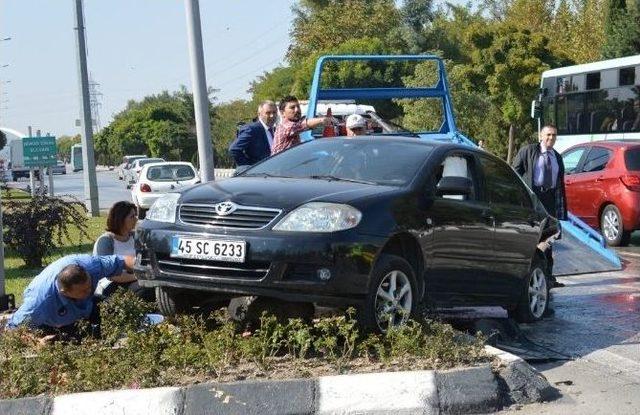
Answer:
[{"label": "low leafy shrubs along the curb in front of black sedan", "polygon": [[2,333],[0,398],[269,377],[278,369],[299,377],[319,365],[341,373],[363,361],[383,370],[487,361],[482,338],[460,338],[449,325],[433,321],[364,336],[353,310],[313,324],[263,315],[255,332],[240,333],[221,313],[145,326],[147,307],[136,301],[119,291],[102,305],[102,339],[42,345],[38,333],[25,328]]}]

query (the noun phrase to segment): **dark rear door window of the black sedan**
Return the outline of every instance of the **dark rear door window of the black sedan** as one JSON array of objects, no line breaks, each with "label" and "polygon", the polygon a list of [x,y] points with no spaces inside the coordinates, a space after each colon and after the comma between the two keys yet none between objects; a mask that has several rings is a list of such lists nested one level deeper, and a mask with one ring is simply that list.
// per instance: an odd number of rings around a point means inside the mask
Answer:
[{"label": "dark rear door window of the black sedan", "polygon": [[480,156],[483,190],[489,203],[531,207],[531,196],[516,173],[504,162]]}]

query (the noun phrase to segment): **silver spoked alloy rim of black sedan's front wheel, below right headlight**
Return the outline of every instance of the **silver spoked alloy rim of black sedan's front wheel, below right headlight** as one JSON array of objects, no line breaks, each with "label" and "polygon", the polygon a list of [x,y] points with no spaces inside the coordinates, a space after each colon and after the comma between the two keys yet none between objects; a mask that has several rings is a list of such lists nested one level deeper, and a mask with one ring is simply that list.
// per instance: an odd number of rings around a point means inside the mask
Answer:
[{"label": "silver spoked alloy rim of black sedan's front wheel, below right headlight", "polygon": [[376,292],[376,322],[383,332],[406,322],[411,315],[411,280],[402,271],[393,270],[382,278]]}]

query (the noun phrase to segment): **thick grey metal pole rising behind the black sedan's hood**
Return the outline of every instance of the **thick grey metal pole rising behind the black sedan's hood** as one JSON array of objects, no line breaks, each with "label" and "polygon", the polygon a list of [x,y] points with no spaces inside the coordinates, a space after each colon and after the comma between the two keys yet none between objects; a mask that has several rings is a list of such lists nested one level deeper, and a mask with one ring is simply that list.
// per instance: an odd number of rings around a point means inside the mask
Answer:
[{"label": "thick grey metal pole rising behind the black sedan's hood", "polygon": [[207,93],[207,80],[204,73],[204,53],[202,52],[200,4],[198,0],[185,0],[184,6],[187,15],[187,40],[191,62],[193,107],[196,114],[200,177],[203,182],[208,182],[215,179],[215,171],[209,120],[209,94]]}]

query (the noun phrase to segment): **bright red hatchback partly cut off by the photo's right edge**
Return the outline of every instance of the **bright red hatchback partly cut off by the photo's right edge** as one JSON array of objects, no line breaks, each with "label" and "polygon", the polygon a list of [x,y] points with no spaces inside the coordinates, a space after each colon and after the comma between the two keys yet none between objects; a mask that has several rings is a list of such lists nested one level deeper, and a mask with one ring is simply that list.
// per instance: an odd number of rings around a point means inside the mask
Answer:
[{"label": "bright red hatchback partly cut off by the photo's right edge", "polygon": [[562,153],[569,212],[599,228],[610,246],[640,229],[640,140],[593,141]]}]

